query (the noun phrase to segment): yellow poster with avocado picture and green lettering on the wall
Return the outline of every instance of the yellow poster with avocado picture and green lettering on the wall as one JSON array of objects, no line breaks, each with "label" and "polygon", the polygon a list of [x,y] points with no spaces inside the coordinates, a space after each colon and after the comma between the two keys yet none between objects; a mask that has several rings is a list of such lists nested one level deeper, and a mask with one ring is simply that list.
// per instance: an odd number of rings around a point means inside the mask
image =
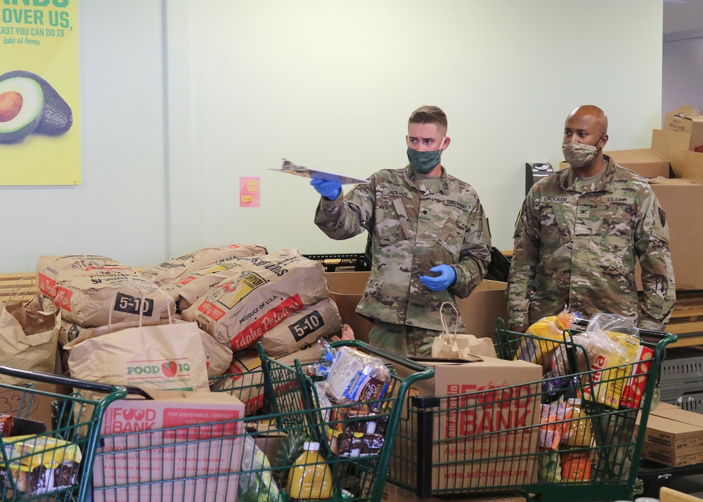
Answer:
[{"label": "yellow poster with avocado picture and green lettering on the wall", "polygon": [[77,2],[0,1],[0,186],[81,182]]}]

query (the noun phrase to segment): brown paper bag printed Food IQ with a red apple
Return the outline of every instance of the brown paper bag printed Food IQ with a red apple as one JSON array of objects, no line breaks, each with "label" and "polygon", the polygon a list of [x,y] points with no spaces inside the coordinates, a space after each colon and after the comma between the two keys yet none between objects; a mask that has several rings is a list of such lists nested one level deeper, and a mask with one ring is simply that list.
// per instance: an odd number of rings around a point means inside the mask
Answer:
[{"label": "brown paper bag printed Food IQ with a red apple", "polygon": [[207,362],[194,323],[127,328],[71,350],[73,378],[144,389],[208,390]]}]

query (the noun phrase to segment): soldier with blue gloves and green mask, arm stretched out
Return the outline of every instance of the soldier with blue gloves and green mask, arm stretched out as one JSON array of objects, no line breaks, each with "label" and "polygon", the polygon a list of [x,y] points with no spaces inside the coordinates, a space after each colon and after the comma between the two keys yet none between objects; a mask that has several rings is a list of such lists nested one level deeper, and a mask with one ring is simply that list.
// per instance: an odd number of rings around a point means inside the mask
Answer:
[{"label": "soldier with blue gloves and green mask, arm stretched out", "polygon": [[[371,234],[371,272],[356,311],[374,322],[372,345],[406,356],[430,355],[442,303],[467,297],[491,261],[476,191],[441,165],[446,126],[439,108],[418,108],[408,120],[404,169],[382,169],[343,196],[340,184],[311,181],[322,195],[315,223],[327,236]],[[452,333],[464,333],[451,307],[442,312]]]}]

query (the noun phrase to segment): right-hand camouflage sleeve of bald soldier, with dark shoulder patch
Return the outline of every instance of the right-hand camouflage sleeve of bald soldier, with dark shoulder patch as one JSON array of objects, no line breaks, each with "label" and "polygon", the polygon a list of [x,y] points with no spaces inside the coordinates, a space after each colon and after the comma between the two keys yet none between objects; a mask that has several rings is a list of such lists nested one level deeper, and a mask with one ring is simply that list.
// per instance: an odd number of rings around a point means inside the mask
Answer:
[{"label": "right-hand camouflage sleeve of bald soldier, with dark shoulder patch", "polygon": [[642,269],[643,288],[638,327],[663,331],[676,303],[676,285],[666,214],[651,189],[643,203],[643,219],[636,229],[635,250]]}]

